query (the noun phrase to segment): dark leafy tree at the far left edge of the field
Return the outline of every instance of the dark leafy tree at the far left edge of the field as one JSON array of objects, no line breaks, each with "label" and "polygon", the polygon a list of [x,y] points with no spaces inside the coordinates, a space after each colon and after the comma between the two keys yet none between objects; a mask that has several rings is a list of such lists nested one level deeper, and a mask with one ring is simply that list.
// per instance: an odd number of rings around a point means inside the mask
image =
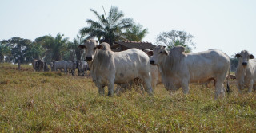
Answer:
[{"label": "dark leafy tree at the far left edge of the field", "polygon": [[20,37],[12,37],[9,40],[3,40],[2,44],[7,45],[11,49],[11,55],[12,60],[17,63],[18,60],[21,61],[21,63],[25,63],[26,61],[26,52],[28,49],[28,46],[32,42],[29,39],[23,39]]}]

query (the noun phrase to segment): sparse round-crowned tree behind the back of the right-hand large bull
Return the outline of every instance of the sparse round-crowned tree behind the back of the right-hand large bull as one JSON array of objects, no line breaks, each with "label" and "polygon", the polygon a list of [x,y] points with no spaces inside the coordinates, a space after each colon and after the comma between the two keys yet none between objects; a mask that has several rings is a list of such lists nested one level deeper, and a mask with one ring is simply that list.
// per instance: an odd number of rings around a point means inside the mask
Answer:
[{"label": "sparse round-crowned tree behind the back of the right-hand large bull", "polygon": [[195,44],[192,41],[194,36],[185,31],[171,30],[170,32],[160,33],[157,37],[158,45],[166,45],[169,49],[177,45],[185,47],[186,53],[191,53],[192,49],[195,48]]}]

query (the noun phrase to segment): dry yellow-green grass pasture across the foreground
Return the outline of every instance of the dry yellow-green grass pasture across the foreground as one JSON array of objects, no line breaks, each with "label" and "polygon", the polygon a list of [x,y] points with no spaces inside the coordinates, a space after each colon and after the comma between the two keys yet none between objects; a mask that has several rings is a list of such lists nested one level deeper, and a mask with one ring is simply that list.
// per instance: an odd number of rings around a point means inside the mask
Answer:
[{"label": "dry yellow-green grass pasture across the foreground", "polygon": [[1,132],[256,132],[256,92],[238,95],[235,80],[219,100],[212,84],[109,97],[88,77],[15,68],[0,64]]}]

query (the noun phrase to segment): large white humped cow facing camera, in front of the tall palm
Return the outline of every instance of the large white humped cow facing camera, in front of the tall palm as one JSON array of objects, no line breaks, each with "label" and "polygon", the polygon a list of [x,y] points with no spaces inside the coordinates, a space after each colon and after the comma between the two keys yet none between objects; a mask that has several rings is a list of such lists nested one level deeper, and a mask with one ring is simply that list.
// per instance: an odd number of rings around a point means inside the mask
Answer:
[{"label": "large white humped cow facing camera, in front of the tall palm", "polygon": [[97,84],[99,94],[104,95],[104,87],[108,86],[108,95],[114,93],[114,84],[127,83],[135,78],[142,79],[149,94],[152,94],[150,59],[138,49],[114,53],[102,50],[94,40],[86,40],[84,45],[78,46],[86,49],[86,61],[90,67],[90,74]]}]

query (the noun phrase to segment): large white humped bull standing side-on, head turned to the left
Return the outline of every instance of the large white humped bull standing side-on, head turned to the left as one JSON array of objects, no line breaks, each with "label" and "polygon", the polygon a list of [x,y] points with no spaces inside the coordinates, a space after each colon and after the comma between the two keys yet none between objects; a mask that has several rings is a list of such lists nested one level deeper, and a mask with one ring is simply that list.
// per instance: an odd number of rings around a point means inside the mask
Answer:
[{"label": "large white humped bull standing side-on, head turned to the left", "polygon": [[[158,65],[162,84],[167,90],[182,88],[184,94],[189,92],[189,83],[204,83],[214,80],[215,98],[225,95],[223,83],[226,73],[230,72],[230,58],[220,50],[210,49],[200,53],[185,53],[182,46],[166,51],[165,46],[158,45],[150,55],[151,65]],[[230,74],[230,73],[229,73]],[[228,86],[228,84],[227,84]],[[229,87],[227,89],[229,91]]]}]

